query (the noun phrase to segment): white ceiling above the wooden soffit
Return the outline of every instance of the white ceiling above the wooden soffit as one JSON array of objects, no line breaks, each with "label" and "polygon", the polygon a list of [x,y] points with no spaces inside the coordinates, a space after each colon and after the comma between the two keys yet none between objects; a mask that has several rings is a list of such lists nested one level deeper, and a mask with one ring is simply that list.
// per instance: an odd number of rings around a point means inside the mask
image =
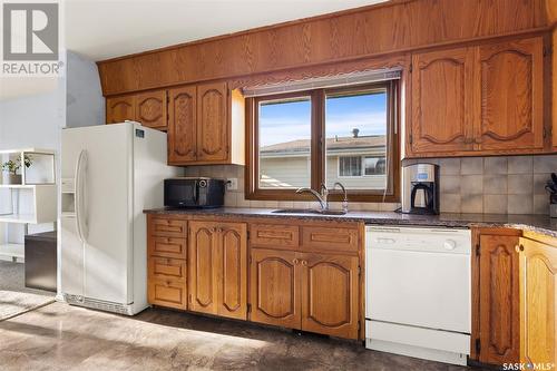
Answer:
[{"label": "white ceiling above the wooden soffit", "polygon": [[66,47],[91,60],[385,0],[66,0]]}]

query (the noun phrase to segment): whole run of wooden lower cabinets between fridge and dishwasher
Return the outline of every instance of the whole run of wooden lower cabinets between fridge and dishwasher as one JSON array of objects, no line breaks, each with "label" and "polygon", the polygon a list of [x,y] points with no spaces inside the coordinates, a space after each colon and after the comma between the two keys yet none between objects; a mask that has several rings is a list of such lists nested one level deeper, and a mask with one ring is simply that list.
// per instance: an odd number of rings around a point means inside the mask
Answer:
[{"label": "whole run of wooden lower cabinets between fridge and dishwasher", "polygon": [[246,223],[148,215],[149,303],[358,339],[354,225],[305,223],[304,244],[299,225],[266,223],[250,225],[248,255]]}]

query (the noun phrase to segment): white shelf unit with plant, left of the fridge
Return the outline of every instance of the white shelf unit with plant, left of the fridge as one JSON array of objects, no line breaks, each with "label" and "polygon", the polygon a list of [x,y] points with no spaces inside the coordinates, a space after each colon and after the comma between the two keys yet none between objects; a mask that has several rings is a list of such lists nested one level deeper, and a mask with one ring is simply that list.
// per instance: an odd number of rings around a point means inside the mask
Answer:
[{"label": "white shelf unit with plant, left of the fridge", "polygon": [[12,243],[6,223],[29,224],[53,223],[57,221],[56,153],[50,149],[23,148],[0,150],[0,163],[18,160],[21,166],[21,183],[9,184],[9,176],[0,177],[0,260],[25,261],[25,245]]}]

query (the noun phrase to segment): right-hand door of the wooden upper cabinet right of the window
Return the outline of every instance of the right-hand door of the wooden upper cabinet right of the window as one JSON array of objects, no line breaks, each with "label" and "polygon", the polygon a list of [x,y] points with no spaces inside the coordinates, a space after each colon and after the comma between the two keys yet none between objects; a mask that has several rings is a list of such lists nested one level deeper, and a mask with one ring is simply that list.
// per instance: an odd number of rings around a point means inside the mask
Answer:
[{"label": "right-hand door of the wooden upper cabinet right of the window", "polygon": [[481,46],[478,67],[479,149],[543,149],[543,38]]}]

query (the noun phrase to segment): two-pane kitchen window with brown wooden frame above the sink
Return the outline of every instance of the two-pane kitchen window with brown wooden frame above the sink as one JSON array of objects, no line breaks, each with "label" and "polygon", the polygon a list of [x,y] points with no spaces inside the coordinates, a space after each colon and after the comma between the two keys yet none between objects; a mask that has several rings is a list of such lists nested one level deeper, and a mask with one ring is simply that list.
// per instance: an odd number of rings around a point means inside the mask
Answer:
[{"label": "two-pane kitchen window with brown wooden frame above the sink", "polygon": [[340,182],[350,201],[398,202],[397,100],[394,80],[247,98],[246,198],[310,199],[294,191]]}]

